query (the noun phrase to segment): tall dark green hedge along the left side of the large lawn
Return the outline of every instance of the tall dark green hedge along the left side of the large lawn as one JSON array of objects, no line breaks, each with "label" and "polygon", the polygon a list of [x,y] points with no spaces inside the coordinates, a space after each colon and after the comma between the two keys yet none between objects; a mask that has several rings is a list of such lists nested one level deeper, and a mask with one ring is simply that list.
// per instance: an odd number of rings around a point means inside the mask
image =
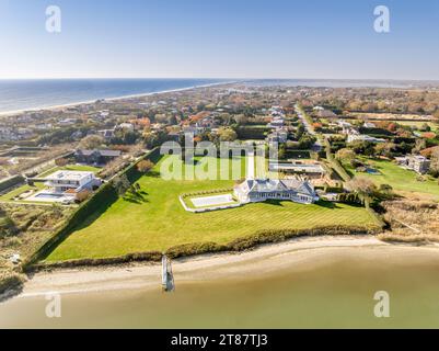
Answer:
[{"label": "tall dark green hedge along the left side of the large lawn", "polygon": [[[140,158],[138,162],[145,159],[158,160],[160,158],[159,148],[153,149],[145,157]],[[141,173],[137,170],[137,163],[127,167],[120,172],[120,174],[127,174],[130,181],[136,181],[140,178]],[[117,192],[111,183],[106,183],[101,186],[89,201],[74,211],[70,217],[66,220],[65,225],[46,242],[44,242],[30,259],[23,263],[23,268],[26,270],[31,264],[46,258],[59,244],[61,244],[77,227],[84,223],[91,214],[97,212],[104,213],[116,200],[118,199]]]}]

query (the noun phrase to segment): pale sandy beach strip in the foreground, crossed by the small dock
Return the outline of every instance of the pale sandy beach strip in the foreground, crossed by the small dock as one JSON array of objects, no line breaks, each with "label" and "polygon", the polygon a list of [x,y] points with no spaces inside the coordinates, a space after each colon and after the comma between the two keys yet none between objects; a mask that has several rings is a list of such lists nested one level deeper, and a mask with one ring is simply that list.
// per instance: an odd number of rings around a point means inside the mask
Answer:
[{"label": "pale sandy beach strip in the foreground, crossed by the small dock", "polygon": [[[267,245],[243,253],[205,254],[173,261],[176,284],[194,281],[255,279],[279,274],[291,265],[312,270],[345,256],[373,260],[374,256],[398,253],[405,259],[438,254],[437,246],[394,246],[372,236],[319,237]],[[78,294],[117,290],[160,288],[159,264],[83,268],[38,272],[25,284],[20,297],[37,296],[47,292]]]}]

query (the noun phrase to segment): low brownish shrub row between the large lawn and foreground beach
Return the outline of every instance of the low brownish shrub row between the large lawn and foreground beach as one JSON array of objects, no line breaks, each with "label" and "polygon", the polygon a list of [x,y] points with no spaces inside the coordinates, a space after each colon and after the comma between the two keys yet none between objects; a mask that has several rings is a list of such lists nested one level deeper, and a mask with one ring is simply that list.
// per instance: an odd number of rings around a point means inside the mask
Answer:
[{"label": "low brownish shrub row between the large lawn and foreground beach", "polygon": [[[371,235],[381,231],[380,227],[367,228],[361,226],[326,226],[315,227],[311,229],[274,229],[274,230],[261,230],[254,235],[238,238],[229,244],[220,245],[217,242],[194,242],[174,246],[167,249],[164,254],[171,259],[190,257],[203,253],[215,253],[215,252],[240,252],[249,250],[258,245],[274,244],[285,241],[291,238],[304,237],[304,236],[335,236],[335,235]],[[51,268],[72,268],[72,267],[84,267],[84,265],[107,265],[107,264],[119,264],[129,262],[159,262],[162,253],[159,251],[150,251],[142,253],[130,253],[117,258],[107,259],[83,259],[72,260],[65,262],[54,263],[38,263],[32,267],[33,270],[43,270]]]}]

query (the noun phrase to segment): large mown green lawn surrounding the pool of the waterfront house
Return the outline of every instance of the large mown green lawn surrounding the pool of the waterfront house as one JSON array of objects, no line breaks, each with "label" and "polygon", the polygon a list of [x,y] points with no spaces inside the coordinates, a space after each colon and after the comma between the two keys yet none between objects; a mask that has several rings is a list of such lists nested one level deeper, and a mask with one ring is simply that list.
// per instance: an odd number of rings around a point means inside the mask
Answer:
[{"label": "large mown green lawn surrounding the pool of the waterfront house", "polygon": [[[238,162],[244,167],[244,162],[239,159]],[[193,214],[184,211],[180,194],[227,189],[234,182],[165,181],[158,176],[145,176],[138,183],[143,199],[119,199],[113,204],[102,204],[102,211],[77,228],[47,261],[117,257],[199,241],[226,244],[258,229],[377,224],[374,216],[362,207],[344,204],[333,207],[328,203],[258,203]]]}]

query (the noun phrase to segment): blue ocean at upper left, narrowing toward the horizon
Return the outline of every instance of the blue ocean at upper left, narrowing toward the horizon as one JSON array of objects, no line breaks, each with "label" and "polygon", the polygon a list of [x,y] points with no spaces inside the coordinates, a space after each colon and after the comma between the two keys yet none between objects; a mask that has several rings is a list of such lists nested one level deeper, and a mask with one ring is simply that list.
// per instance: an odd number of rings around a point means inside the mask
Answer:
[{"label": "blue ocean at upper left, narrowing toward the horizon", "polygon": [[220,79],[0,80],[0,112],[147,94],[222,82]]}]

